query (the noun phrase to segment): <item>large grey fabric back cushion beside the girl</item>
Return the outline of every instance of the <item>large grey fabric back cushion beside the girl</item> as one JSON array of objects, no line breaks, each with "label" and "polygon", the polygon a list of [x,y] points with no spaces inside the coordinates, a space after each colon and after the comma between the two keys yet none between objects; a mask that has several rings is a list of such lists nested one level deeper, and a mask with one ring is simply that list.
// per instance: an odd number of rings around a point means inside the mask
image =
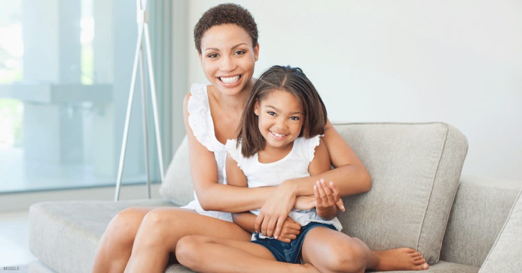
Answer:
[{"label": "large grey fabric back cushion beside the girl", "polygon": [[466,137],[445,123],[335,126],[372,178],[369,192],[343,198],[342,231],[374,251],[410,247],[437,263]]}]

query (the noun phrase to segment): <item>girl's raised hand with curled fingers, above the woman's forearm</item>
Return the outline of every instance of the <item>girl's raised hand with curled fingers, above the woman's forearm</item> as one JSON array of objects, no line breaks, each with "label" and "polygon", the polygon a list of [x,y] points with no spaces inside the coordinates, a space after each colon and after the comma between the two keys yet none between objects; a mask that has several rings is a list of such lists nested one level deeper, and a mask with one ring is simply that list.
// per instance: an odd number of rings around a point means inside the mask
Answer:
[{"label": "girl's raised hand with curled fingers, above the woman's forearm", "polygon": [[[322,218],[330,218],[332,213],[337,214],[337,209],[334,209],[334,206],[336,206],[341,198],[339,189],[337,189],[334,182],[330,181],[330,183],[326,184],[323,179],[315,182],[314,196],[317,215]],[[331,218],[334,217],[335,216]]]}]

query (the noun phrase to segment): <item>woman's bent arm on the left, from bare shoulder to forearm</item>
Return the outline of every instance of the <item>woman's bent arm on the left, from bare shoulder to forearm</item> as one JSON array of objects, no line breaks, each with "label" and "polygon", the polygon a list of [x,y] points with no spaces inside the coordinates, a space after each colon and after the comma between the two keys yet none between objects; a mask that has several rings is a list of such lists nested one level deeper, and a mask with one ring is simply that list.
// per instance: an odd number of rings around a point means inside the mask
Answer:
[{"label": "woman's bent arm on the left, from bare shoulder to forearm", "polygon": [[189,165],[199,204],[204,210],[224,212],[259,209],[274,191],[274,188],[246,188],[218,183],[218,170],[214,153],[199,143],[192,132],[192,128],[188,125],[187,104],[190,97],[191,93],[185,96],[183,117],[188,139]]}]

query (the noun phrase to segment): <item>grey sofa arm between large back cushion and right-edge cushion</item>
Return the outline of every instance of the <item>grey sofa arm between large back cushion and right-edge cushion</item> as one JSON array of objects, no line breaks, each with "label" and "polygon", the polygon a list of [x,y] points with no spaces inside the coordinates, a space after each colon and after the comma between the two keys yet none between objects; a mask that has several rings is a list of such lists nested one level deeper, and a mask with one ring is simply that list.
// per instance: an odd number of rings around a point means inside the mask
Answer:
[{"label": "grey sofa arm between large back cushion and right-edge cushion", "polygon": [[520,181],[462,175],[441,250],[447,262],[480,267],[522,188]]}]

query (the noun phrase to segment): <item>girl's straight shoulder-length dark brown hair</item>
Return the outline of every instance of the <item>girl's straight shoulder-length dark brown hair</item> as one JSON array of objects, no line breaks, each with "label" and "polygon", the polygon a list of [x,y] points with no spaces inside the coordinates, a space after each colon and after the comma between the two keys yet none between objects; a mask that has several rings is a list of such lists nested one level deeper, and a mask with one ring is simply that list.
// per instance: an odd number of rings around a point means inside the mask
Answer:
[{"label": "girl's straight shoulder-length dark brown hair", "polygon": [[290,92],[298,99],[304,114],[300,137],[311,138],[325,132],[326,108],[312,82],[301,68],[275,65],[256,80],[241,116],[238,145],[241,142],[244,157],[251,157],[265,147],[254,108],[275,90]]}]

